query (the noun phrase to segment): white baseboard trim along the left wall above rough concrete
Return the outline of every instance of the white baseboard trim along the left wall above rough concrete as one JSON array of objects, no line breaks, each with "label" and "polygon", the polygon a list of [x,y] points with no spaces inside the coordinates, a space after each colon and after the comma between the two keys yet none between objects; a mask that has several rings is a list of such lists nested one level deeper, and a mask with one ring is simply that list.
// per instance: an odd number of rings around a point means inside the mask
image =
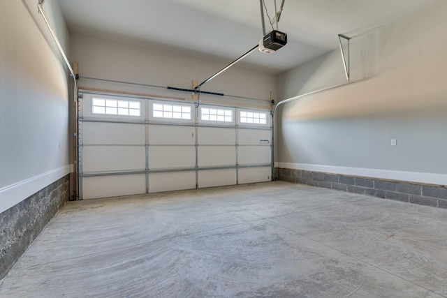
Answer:
[{"label": "white baseboard trim along the left wall above rough concrete", "polygon": [[54,181],[70,174],[71,165],[64,165],[35,177],[0,188],[0,213],[34,195]]}]

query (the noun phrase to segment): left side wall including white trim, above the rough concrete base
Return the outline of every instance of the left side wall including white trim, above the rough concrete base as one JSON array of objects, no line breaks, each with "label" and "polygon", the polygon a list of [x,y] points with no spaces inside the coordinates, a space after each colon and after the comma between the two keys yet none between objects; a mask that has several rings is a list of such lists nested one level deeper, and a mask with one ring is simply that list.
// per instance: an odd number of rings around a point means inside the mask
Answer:
[{"label": "left side wall including white trim, above the rough concrete base", "polygon": [[[1,2],[0,212],[70,172],[68,78],[37,3]],[[68,48],[58,2],[44,9]]]}]

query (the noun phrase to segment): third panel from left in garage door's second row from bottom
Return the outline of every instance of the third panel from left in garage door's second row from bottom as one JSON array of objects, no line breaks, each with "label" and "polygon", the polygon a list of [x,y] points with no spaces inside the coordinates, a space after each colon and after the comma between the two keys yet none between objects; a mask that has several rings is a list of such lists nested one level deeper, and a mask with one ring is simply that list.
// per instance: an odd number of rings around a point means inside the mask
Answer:
[{"label": "third panel from left in garage door's second row from bottom", "polygon": [[220,167],[236,165],[236,147],[198,147],[199,167]]}]

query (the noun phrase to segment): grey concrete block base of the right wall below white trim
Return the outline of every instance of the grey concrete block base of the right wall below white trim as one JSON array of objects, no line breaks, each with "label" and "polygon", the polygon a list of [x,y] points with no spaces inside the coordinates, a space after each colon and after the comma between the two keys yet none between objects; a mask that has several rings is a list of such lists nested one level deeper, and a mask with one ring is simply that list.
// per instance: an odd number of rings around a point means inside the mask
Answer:
[{"label": "grey concrete block base of the right wall below white trim", "polygon": [[324,172],[310,172],[279,167],[274,169],[274,173],[278,180],[447,209],[446,186],[346,176]]}]

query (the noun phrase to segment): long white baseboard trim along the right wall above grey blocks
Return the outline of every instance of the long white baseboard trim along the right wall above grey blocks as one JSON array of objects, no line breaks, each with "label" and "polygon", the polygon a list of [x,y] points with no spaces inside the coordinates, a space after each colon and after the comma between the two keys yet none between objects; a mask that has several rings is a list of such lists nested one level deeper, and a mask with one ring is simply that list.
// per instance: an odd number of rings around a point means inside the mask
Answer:
[{"label": "long white baseboard trim along the right wall above grey blocks", "polygon": [[337,167],[332,165],[308,165],[305,163],[274,163],[274,167],[286,169],[305,170],[312,172],[325,172],[330,174],[343,174],[346,176],[371,177],[376,179],[389,179],[420,184],[447,185],[447,174],[432,174],[423,172],[404,172],[394,170],[367,169],[362,167]]}]

